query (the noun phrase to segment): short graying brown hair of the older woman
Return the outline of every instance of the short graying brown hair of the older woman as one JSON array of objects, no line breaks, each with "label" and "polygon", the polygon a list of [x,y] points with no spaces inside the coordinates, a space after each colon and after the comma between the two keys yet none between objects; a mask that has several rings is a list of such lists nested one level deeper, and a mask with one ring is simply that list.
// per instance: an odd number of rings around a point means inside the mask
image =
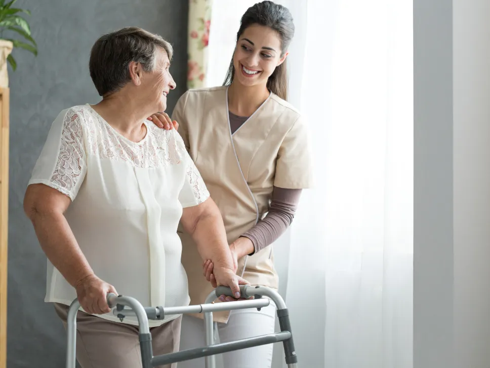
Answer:
[{"label": "short graying brown hair of the older woman", "polygon": [[102,35],[92,47],[89,70],[99,95],[116,92],[131,81],[129,64],[141,63],[145,71],[155,67],[157,48],[172,60],[172,45],[161,36],[138,27],[126,27]]}]

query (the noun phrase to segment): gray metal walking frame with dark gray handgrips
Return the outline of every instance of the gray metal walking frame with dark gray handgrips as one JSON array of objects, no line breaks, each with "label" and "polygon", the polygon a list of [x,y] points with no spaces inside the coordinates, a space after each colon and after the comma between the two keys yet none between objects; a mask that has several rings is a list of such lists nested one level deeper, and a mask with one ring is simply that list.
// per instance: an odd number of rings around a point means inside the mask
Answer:
[{"label": "gray metal walking frame with dark gray handgrips", "polygon": [[[215,355],[229,351],[246,349],[259,345],[273,344],[282,341],[284,345],[284,355],[288,368],[297,368],[297,356],[294,348],[293,333],[289,320],[288,308],[284,300],[273,289],[265,286],[240,285],[240,295],[242,298],[251,300],[213,303],[221,296],[233,297],[231,289],[225,286],[218,286],[213,290],[205,304],[189,305],[183,307],[146,307],[144,308],[136,299],[131,297],[116,296],[111,293],[107,296],[109,307],[113,308],[112,313],[122,321],[126,316],[136,316],[139,324],[139,341],[141,348],[141,360],[143,368],[152,368],[159,365],[175,363],[205,357],[206,368],[215,368]],[[267,297],[267,298],[263,298]],[[236,309],[267,307],[272,299],[277,306],[277,317],[279,318],[280,332],[268,335],[257,336],[248,339],[236,340],[229,343],[214,344],[214,323],[213,312],[231,311]],[[129,308],[125,308],[128,306]],[[68,348],[66,354],[66,368],[75,368],[76,351],[76,312],[80,308],[80,303],[75,299],[69,308],[67,318]],[[151,346],[151,334],[148,320],[161,320],[165,316],[175,314],[204,313],[204,323],[206,328],[207,346],[187,349],[175,353],[153,356]]]}]

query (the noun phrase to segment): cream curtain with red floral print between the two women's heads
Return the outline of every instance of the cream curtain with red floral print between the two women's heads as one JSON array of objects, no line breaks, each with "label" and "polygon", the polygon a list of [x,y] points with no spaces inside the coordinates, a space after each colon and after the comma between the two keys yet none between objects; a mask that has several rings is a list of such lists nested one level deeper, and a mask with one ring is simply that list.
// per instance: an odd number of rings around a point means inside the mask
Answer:
[{"label": "cream curtain with red floral print between the two women's heads", "polygon": [[189,0],[187,88],[205,86],[212,0]]}]

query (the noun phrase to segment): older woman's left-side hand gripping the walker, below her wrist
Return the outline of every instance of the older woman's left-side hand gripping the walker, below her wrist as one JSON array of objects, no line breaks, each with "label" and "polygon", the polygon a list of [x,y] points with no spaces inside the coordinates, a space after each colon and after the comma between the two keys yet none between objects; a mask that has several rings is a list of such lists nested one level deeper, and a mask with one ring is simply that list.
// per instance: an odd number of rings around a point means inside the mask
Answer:
[{"label": "older woman's left-side hand gripping the walker, below her wrist", "polygon": [[111,284],[101,280],[95,275],[87,276],[76,284],[76,295],[81,307],[90,314],[109,313],[107,294],[117,291]]}]

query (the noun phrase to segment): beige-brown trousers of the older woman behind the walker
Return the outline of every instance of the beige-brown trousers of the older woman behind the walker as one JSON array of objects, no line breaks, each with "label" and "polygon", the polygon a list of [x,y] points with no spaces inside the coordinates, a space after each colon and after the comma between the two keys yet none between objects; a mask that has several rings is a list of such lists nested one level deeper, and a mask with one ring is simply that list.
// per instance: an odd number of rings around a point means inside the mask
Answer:
[{"label": "beige-brown trousers of the older woman behind the walker", "polygon": [[[54,304],[66,328],[68,306]],[[182,316],[151,327],[153,355],[179,350]],[[82,368],[140,368],[141,351],[138,326],[108,321],[78,311],[76,317],[76,359]],[[177,363],[161,368],[177,368]]]}]

